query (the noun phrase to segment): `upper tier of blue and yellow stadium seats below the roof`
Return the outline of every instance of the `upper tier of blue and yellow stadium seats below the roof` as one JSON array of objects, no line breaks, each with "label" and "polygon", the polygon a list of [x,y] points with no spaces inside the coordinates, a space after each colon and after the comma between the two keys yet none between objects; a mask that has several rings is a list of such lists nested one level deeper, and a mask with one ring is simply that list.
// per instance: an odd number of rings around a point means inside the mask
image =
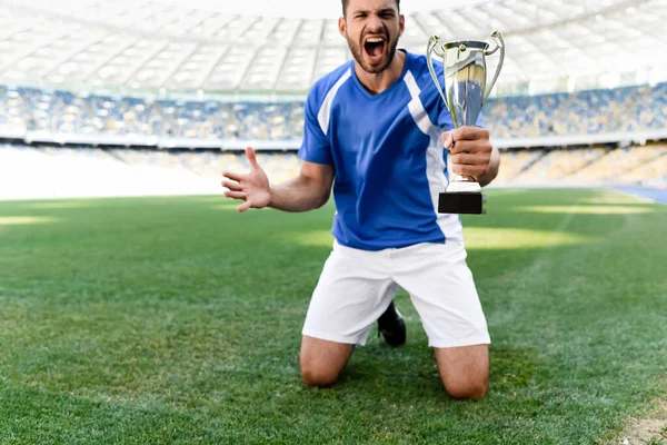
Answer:
[{"label": "upper tier of blue and yellow stadium seats below the roof", "polygon": [[[667,128],[667,83],[497,98],[484,110],[485,125],[498,138],[663,130]],[[295,141],[303,134],[303,105],[77,96],[0,87],[0,130],[3,127],[100,136]]]}]

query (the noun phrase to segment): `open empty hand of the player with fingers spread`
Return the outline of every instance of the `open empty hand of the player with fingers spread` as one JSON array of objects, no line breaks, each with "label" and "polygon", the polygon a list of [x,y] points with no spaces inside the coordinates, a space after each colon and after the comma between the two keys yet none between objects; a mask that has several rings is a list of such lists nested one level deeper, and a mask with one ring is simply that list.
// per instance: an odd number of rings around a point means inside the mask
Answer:
[{"label": "open empty hand of the player with fingers spread", "polygon": [[232,171],[222,172],[222,177],[226,178],[222,181],[222,187],[229,189],[225,191],[225,196],[245,201],[238,207],[240,212],[251,208],[265,208],[271,202],[269,178],[257,164],[255,150],[250,147],[246,148],[246,157],[250,162],[250,172],[248,175],[240,175]]}]

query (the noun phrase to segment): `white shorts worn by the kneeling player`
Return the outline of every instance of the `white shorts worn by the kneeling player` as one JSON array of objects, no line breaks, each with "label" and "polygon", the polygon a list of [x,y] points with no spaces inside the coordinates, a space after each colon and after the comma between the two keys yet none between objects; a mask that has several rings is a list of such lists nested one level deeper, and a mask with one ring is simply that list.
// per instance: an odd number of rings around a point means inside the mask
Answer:
[{"label": "white shorts worn by the kneeling player", "polygon": [[410,294],[430,347],[489,344],[466,257],[460,244],[366,251],[335,243],[312,294],[302,334],[365,345],[400,286]]}]

